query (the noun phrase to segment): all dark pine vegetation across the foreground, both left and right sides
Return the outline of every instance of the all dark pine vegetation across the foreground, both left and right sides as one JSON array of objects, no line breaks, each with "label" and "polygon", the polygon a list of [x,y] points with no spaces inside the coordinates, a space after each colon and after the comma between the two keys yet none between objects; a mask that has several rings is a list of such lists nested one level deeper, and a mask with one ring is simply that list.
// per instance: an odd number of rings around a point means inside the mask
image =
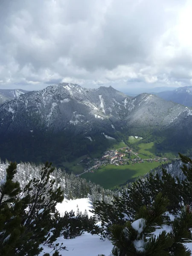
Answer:
[{"label": "all dark pine vegetation across the foreground, both left and right sides", "polygon": [[55,186],[51,164],[21,189],[14,180],[17,165],[10,163],[0,182],[0,255],[38,256],[44,244],[52,248],[52,256],[61,256],[67,248],[55,243],[58,237],[73,239],[87,231],[110,239],[113,256],[190,256],[186,243],[192,243],[192,160],[180,157],[182,180],[165,170],[151,173],[109,203],[95,202],[90,218],[74,212],[61,217],[56,211],[64,191]]}]

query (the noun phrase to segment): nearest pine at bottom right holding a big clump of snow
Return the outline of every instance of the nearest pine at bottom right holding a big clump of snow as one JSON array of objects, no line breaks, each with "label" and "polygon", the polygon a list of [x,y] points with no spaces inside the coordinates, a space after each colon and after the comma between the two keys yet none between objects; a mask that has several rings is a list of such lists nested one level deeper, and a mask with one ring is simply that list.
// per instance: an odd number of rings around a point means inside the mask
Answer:
[{"label": "nearest pine at bottom right holding a big clump of snow", "polygon": [[[183,243],[192,242],[192,213],[183,208],[180,216],[168,222],[169,200],[159,193],[150,207],[143,206],[134,220],[110,227],[113,256],[190,256]],[[160,230],[169,224],[171,231]],[[154,234],[156,233],[156,234]]]}]

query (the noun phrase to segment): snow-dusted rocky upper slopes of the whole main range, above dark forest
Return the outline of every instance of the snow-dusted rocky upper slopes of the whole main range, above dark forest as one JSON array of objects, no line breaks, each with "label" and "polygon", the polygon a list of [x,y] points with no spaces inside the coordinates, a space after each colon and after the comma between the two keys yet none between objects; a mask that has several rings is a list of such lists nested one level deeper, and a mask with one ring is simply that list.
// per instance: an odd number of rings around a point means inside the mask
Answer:
[{"label": "snow-dusted rocky upper slopes of the whole main range, above dark forest", "polygon": [[93,124],[107,125],[111,131],[121,125],[166,129],[182,120],[190,122],[192,110],[152,94],[131,98],[112,87],[85,89],[77,84],[63,83],[7,102],[0,108],[0,118],[3,119],[0,134],[40,128],[88,132]]}]

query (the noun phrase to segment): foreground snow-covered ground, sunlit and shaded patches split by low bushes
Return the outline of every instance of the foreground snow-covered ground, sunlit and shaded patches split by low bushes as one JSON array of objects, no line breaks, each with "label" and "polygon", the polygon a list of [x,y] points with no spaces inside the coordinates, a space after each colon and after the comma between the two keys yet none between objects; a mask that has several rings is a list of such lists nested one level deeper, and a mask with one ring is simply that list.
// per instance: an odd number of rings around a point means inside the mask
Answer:
[{"label": "foreground snow-covered ground, sunlit and shaded patches split by low bushes", "polygon": [[[56,208],[60,214],[63,215],[65,211],[70,212],[73,210],[74,212],[77,212],[77,205],[79,211],[82,213],[84,213],[86,209],[89,216],[93,215],[93,213],[89,212],[89,210],[93,208],[92,202],[89,198],[76,200],[64,199],[61,204],[57,204]],[[102,241],[100,236],[91,235],[87,232],[84,232],[84,234],[76,237],[75,239],[64,239],[61,236],[55,241],[55,244],[56,243],[63,243],[63,246],[67,247],[67,250],[59,251],[59,254],[62,256],[97,256],[102,253],[105,254],[105,256],[109,256],[111,255],[111,250],[113,248],[113,245],[108,239]],[[41,247],[43,247],[44,250],[40,253],[40,256],[43,256],[44,253],[50,253],[50,255],[54,253],[54,251],[47,246],[41,245]]]}]

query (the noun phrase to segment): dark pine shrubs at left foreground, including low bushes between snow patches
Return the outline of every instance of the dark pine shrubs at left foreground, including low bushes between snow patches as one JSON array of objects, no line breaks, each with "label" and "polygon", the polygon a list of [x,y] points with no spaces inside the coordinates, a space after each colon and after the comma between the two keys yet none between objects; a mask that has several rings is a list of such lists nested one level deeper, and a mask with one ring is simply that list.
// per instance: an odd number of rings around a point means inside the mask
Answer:
[{"label": "dark pine shrubs at left foreground, including low bushes between snow patches", "polygon": [[[23,189],[15,181],[15,175],[18,175],[16,163],[10,163],[4,174],[0,182],[1,256],[37,256],[43,250],[42,244],[52,248],[52,256],[59,256],[59,251],[66,250],[62,243],[59,246],[53,244],[59,236],[73,239],[84,231],[99,233],[96,218],[89,218],[86,212],[75,215],[70,211],[64,216],[59,215],[55,207],[66,193],[59,184],[55,185],[51,164],[46,163],[40,169],[39,177],[30,180]],[[73,189],[78,189],[78,183]]]}]

